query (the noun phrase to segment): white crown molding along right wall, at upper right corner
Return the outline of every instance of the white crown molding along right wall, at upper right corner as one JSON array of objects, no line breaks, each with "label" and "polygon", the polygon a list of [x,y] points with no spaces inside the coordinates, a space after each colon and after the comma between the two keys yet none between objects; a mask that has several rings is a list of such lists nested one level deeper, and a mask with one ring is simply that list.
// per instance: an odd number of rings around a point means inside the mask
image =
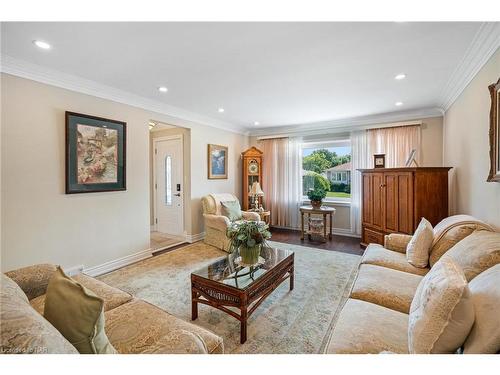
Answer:
[{"label": "white crown molding along right wall, at upper right corner", "polygon": [[451,107],[499,46],[500,22],[483,22],[439,96],[441,108]]}]

